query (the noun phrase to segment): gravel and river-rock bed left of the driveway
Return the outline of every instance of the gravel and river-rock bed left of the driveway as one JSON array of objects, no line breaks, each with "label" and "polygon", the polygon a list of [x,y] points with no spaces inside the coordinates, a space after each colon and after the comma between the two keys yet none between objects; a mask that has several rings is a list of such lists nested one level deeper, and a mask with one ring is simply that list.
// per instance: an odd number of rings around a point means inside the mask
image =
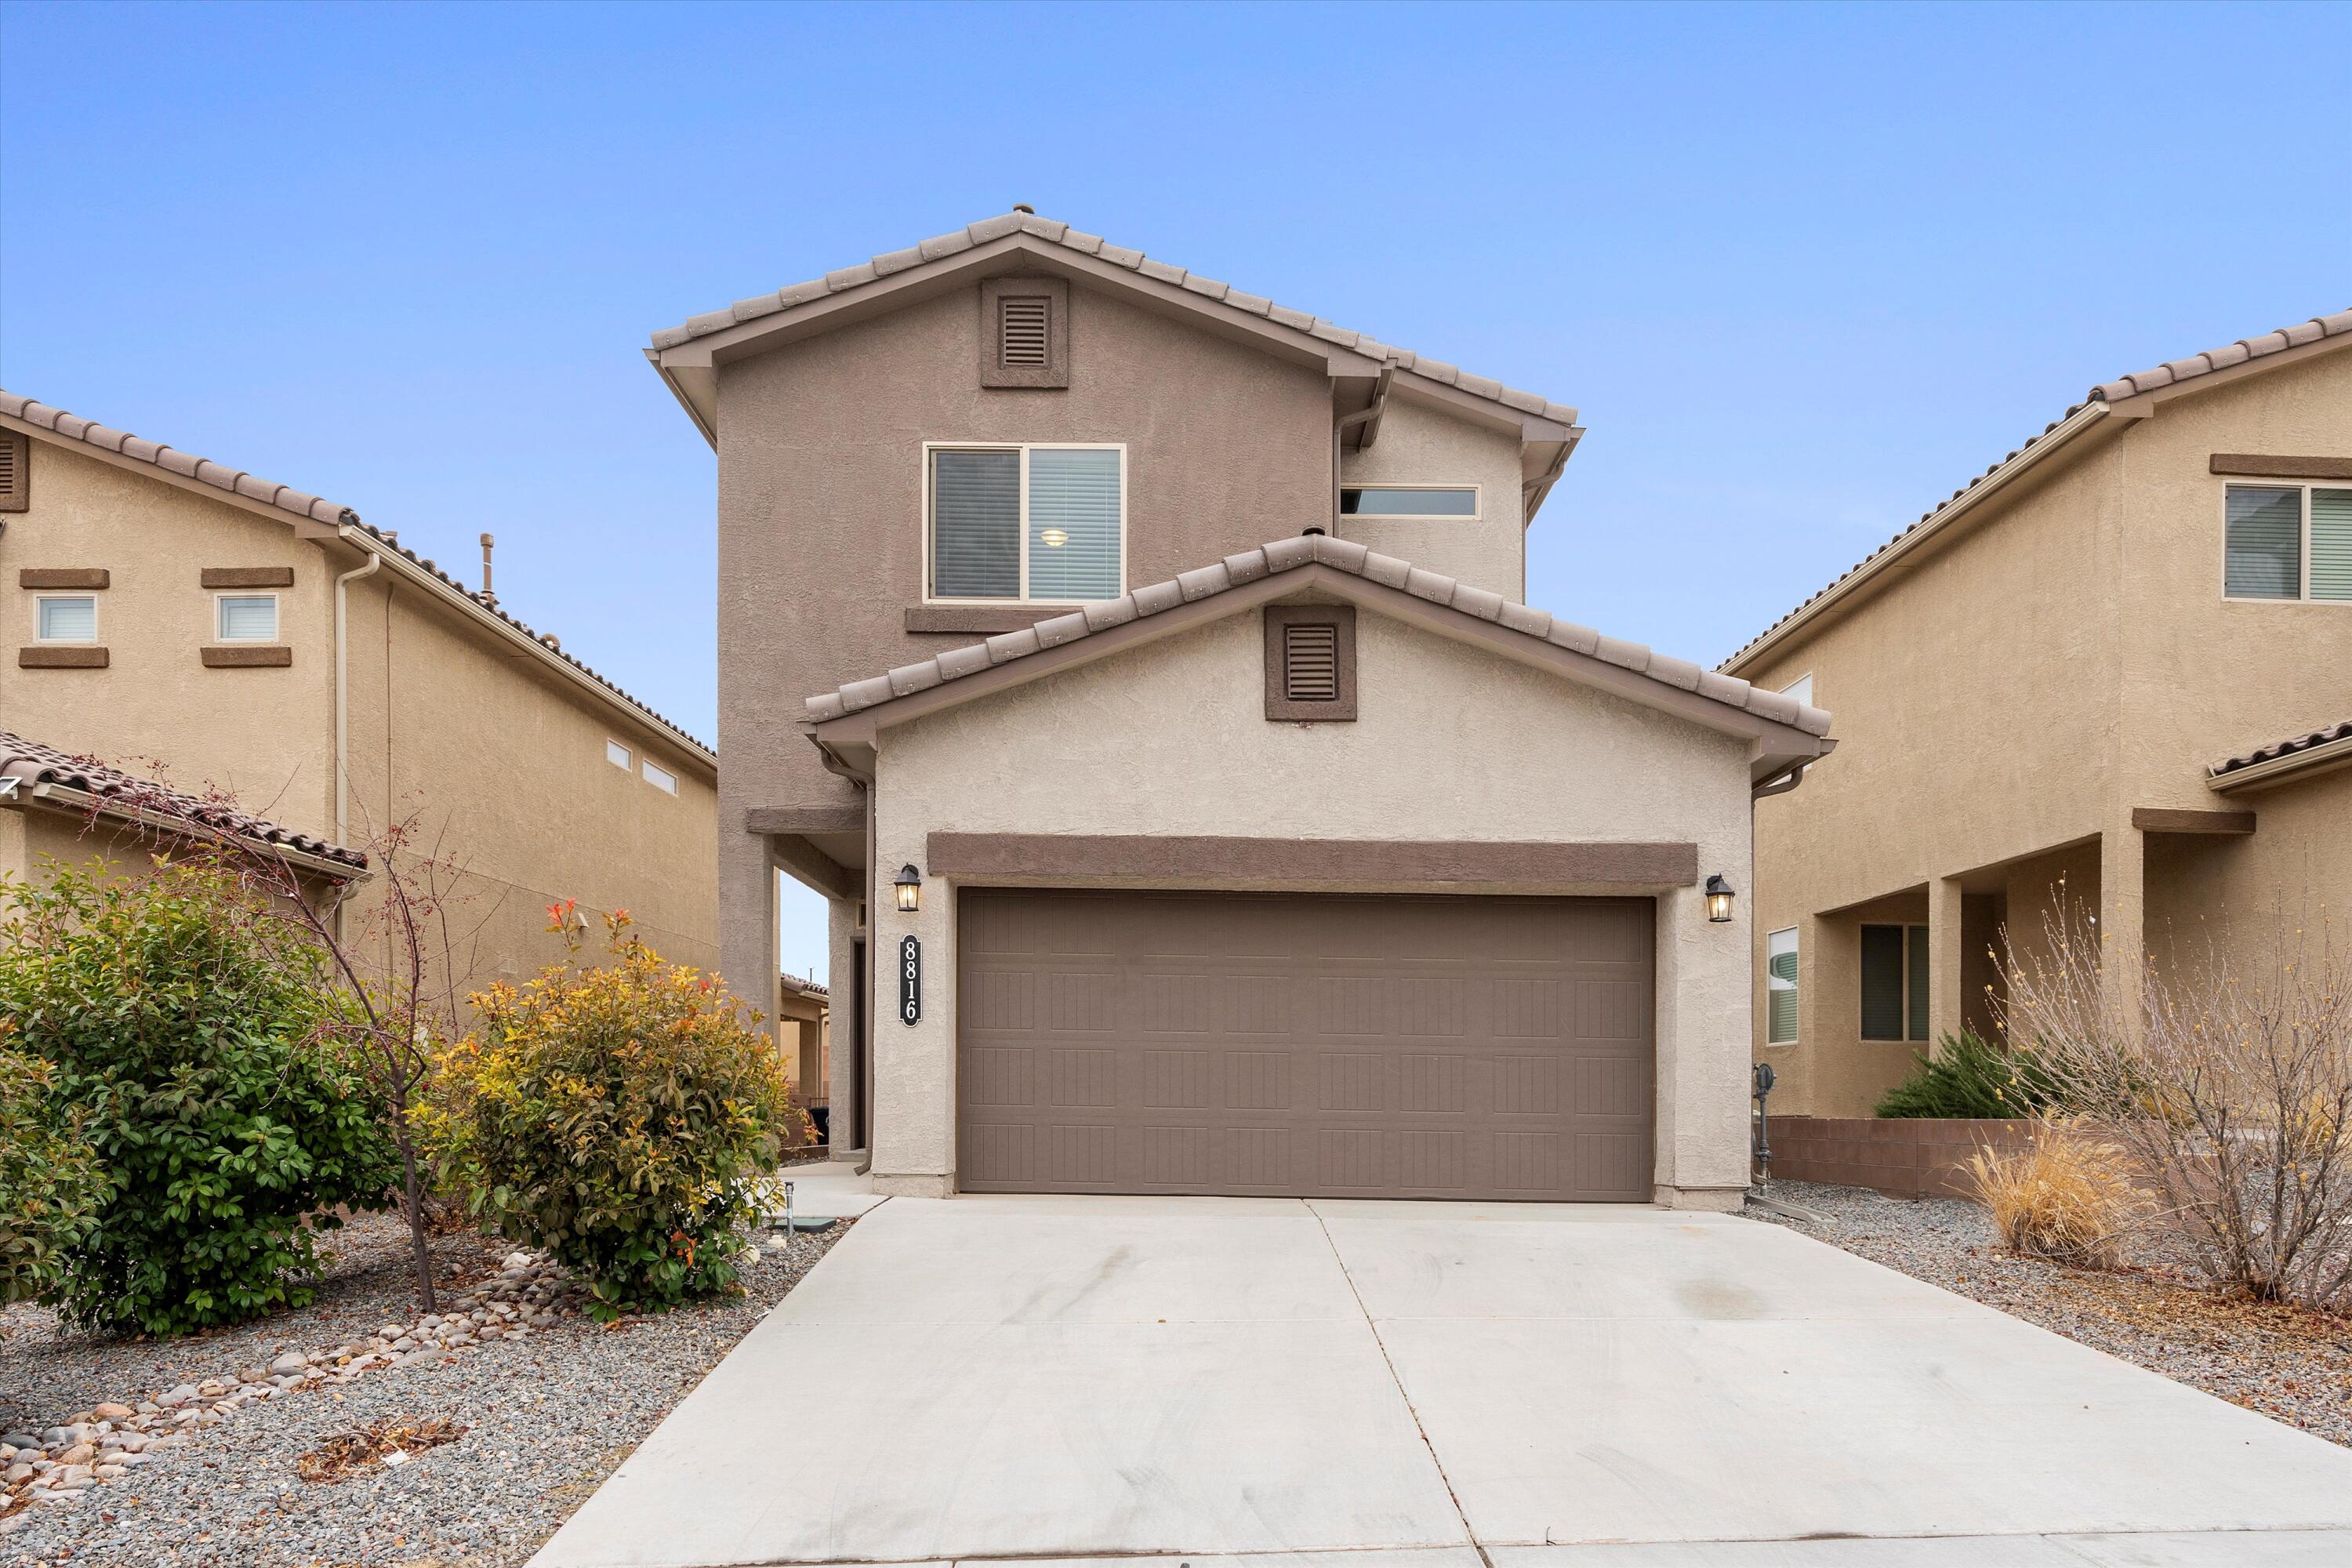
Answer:
[{"label": "gravel and river-rock bed left of the driveway", "polygon": [[[315,1305],[233,1331],[118,1340],[0,1312],[0,1427],[75,1443],[16,1462],[85,1486],[0,1519],[0,1561],[520,1566],[844,1232],[764,1237],[743,1295],[612,1326],[574,1314],[550,1265],[475,1234],[435,1241],[452,1316],[421,1326],[395,1215],[327,1239]],[[96,1420],[56,1432],[75,1418]],[[68,1481],[78,1448],[94,1474]]]}]

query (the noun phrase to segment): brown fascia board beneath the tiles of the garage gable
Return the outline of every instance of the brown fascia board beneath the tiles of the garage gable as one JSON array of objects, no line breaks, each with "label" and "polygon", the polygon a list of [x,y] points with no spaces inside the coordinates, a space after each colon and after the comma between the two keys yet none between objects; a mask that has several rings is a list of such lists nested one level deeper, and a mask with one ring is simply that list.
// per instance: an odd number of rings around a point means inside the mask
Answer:
[{"label": "brown fascia board beneath the tiles of the garage gable", "polygon": [[1501,654],[1512,663],[1559,675],[1581,686],[1621,696],[1644,708],[1656,708],[1703,729],[1738,736],[1752,743],[1755,766],[1776,766],[1778,771],[1788,771],[1788,766],[1797,759],[1820,757],[1830,750],[1828,741],[1792,724],[1780,724],[1776,719],[1717,703],[1710,696],[1670,686],[1637,670],[1613,665],[1592,654],[1564,649],[1555,642],[1529,637],[1526,632],[1517,632],[1508,625],[1479,621],[1477,616],[1458,611],[1451,604],[1435,604],[1404,592],[1402,588],[1369,583],[1350,571],[1338,571],[1322,562],[1294,567],[1289,571],[1272,571],[1254,583],[1228,588],[1223,592],[1192,599],[1190,604],[1164,609],[1157,616],[1129,621],[1127,625],[1077,637],[1075,642],[1063,642],[1061,646],[1042,649],[1023,658],[1009,658],[1002,665],[962,679],[910,691],[837,719],[823,719],[818,724],[804,722],[802,729],[807,729],[818,745],[835,748],[837,752],[847,748],[875,748],[884,729],[908,724],[943,708],[955,708],[995,691],[1009,691],[1011,686],[1021,686],[1047,675],[1075,670],[1094,663],[1096,658],[1110,658],[1136,644],[1174,637],[1211,621],[1223,621],[1225,616],[1272,604],[1277,599],[1289,599],[1308,590],[1327,592],[1392,621],[1402,621],[1439,637],[1451,637],[1454,642],[1468,642],[1470,646]]}]

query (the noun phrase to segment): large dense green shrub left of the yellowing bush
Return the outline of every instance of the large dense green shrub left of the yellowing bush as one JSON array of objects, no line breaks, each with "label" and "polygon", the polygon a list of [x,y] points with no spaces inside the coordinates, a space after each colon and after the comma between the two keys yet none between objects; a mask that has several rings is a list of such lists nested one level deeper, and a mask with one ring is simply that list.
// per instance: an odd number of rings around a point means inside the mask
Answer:
[{"label": "large dense green shrub left of the yellowing bush", "polygon": [[320,954],[219,870],[52,870],[0,879],[0,1018],[108,1182],[64,1316],[188,1333],[306,1305],[327,1211],[381,1208],[395,1175],[376,1095],[318,1037]]}]

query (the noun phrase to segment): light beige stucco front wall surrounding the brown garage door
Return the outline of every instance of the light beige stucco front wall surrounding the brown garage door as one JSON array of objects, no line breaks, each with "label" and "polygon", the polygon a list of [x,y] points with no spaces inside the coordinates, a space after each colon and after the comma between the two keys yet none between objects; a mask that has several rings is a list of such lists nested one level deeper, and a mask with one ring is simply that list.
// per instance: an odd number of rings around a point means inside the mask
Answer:
[{"label": "light beige stucco front wall surrounding the brown garage door", "polygon": [[[1308,839],[1696,842],[1748,858],[1745,745],[1357,614],[1359,719],[1270,724],[1254,611],[884,731],[877,860],[934,830]],[[887,896],[889,889],[877,889]],[[875,1173],[955,1173],[955,898],[877,903]],[[924,1018],[894,1016],[898,938],[924,943]],[[1696,889],[1658,900],[1658,1182],[1748,1180],[1748,931]]]}]

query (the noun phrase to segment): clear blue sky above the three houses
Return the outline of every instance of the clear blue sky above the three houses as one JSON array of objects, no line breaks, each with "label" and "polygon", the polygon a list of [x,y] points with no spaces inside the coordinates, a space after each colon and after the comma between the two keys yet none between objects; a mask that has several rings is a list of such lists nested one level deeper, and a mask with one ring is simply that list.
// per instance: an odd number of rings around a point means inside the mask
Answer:
[{"label": "clear blue sky above the three houses", "polygon": [[2093,381],[2352,303],[2347,59],[2345,5],[7,2],[0,386],[468,581],[494,531],[710,738],[713,458],[637,350],[1030,202],[1576,404],[1529,597],[1717,661]]}]

